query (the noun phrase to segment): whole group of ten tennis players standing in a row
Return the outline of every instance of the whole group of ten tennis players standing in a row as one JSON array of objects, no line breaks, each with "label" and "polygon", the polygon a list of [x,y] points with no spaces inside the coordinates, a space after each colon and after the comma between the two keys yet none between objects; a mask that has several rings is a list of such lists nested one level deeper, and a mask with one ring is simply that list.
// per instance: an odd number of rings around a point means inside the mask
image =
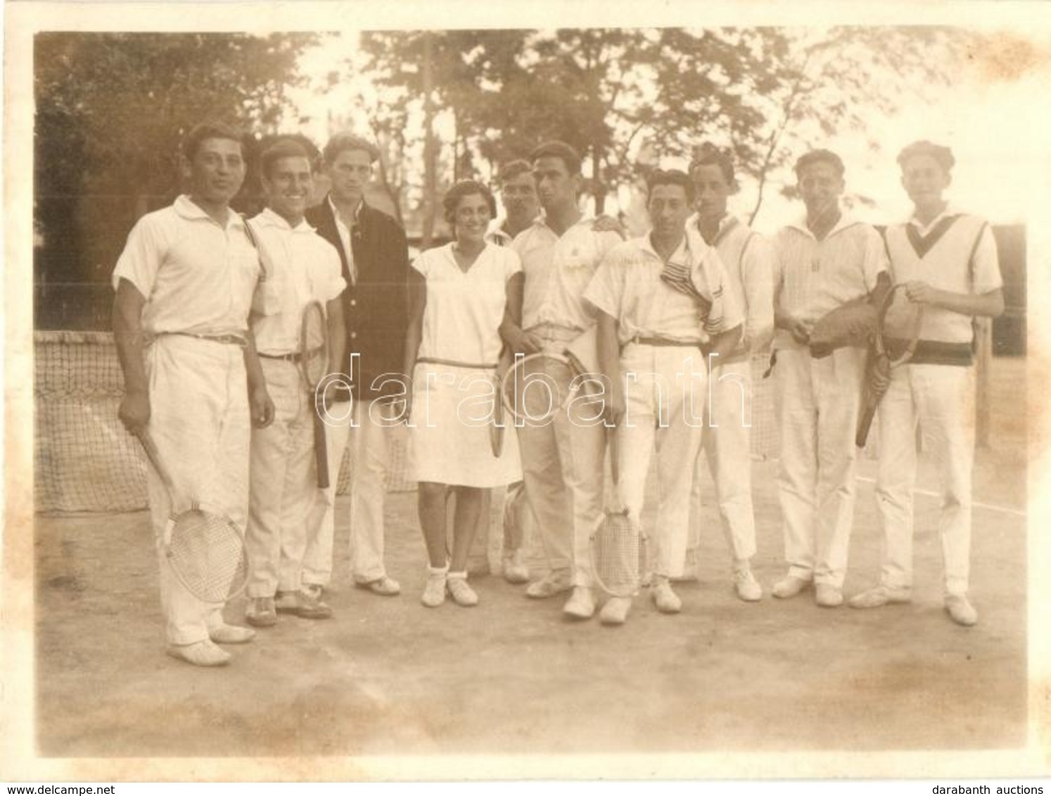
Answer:
[{"label": "whole group of ten tennis players standing in a row", "polygon": [[[148,469],[170,655],[219,666],[230,659],[220,645],[251,641],[252,628],[279,614],[332,615],[325,589],[335,475],[348,448],[349,517],[341,522],[349,524],[354,584],[399,593],[385,567],[384,501],[390,430],[403,422],[428,558],[425,606],[478,603],[468,557],[488,526],[493,488],[510,485],[503,577],[529,581],[532,599],[565,594],[570,620],[598,612],[603,624],[623,624],[632,598],[602,601],[589,542],[611,491],[641,522],[654,456],[659,488],[645,531],[656,608],[682,608],[673,583],[693,573],[707,530],[705,470],[734,588],[741,600],[760,600],[747,420],[751,359],[768,352],[787,563],[771,592],[789,599],[812,589],[817,605],[841,605],[854,430],[871,354],[859,344],[811,350],[810,333],[827,313],[873,300],[890,285],[903,285],[924,313],[912,357],[891,371],[879,410],[882,570],[849,603],[910,600],[919,426],[941,477],[945,608],[961,625],[976,622],[967,593],[973,320],[1000,314],[1003,296],[989,226],[945,200],[948,148],[922,141],[902,150],[914,212],[883,234],[843,209],[840,158],[809,151],[795,167],[805,212],[764,237],[728,212],[737,191],[730,156],[698,147],[688,172],[648,172],[648,232],[625,239],[616,219],[581,209],[580,153],[549,141],[499,170],[502,213],[485,183],[453,185],[442,203],[451,243],[412,263],[404,230],[365,200],[379,158],[370,141],[338,133],[327,143],[320,168],[330,189],[313,207],[313,158],[294,139],[277,141],[260,158],[266,207],[251,218],[229,205],[246,174],[240,131],[199,125],[182,155],[187,192],[136,224],[114,271],[120,417],[129,431],[148,430],[171,491],[245,529],[252,627],[227,624],[223,605],[197,599],[172,573],[163,539],[172,497]],[[311,302],[326,309],[333,374],[318,393],[300,366]],[[515,361],[566,352],[606,386],[597,416],[594,402],[557,402],[544,422],[507,422],[494,442],[492,418],[465,414],[492,412],[494,385]],[[556,383],[555,392],[571,386]],[[318,412],[327,488],[317,480]],[[527,527],[547,559],[531,581]]]}]

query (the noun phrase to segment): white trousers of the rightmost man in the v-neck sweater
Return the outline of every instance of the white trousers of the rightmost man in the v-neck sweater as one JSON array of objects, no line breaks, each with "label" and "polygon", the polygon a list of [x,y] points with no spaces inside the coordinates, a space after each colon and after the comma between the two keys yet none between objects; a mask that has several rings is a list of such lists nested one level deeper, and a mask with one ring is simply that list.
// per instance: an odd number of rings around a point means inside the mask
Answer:
[{"label": "white trousers of the rightmost man in the v-neck sweater", "polygon": [[906,364],[893,371],[879,409],[877,504],[883,519],[881,580],[912,586],[912,487],[916,424],[940,476],[945,593],[966,594],[970,574],[971,470],[974,464],[974,372],[944,364]]}]

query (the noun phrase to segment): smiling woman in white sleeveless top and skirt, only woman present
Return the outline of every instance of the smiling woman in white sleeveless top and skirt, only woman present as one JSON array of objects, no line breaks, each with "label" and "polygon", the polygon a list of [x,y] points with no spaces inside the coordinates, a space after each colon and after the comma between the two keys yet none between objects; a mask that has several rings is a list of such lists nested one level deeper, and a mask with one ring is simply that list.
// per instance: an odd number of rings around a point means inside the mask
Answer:
[{"label": "smiling woman in white sleeveless top and skirt, only woman present", "polygon": [[[454,240],[430,249],[409,275],[406,373],[413,374],[409,466],[418,482],[419,524],[429,559],[421,602],[434,608],[446,592],[458,605],[477,605],[467,583],[467,559],[482,491],[521,478],[516,435],[504,433],[494,455],[490,427],[499,400],[496,376],[507,364],[504,334],[514,333],[509,297],[521,295],[521,263],[508,248],[486,242],[496,214],[492,192],[465,180],[444,200]],[[517,293],[516,293],[517,291]],[[449,552],[446,503],[455,496]]]}]

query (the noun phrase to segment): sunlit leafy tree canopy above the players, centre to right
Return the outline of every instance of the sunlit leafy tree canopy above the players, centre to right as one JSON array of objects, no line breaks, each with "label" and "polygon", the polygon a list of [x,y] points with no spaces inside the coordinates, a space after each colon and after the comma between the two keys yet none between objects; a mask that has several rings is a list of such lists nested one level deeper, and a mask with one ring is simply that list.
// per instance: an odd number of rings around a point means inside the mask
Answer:
[{"label": "sunlit leafy tree canopy above the players, centre to right", "polygon": [[[643,143],[688,156],[708,140],[733,151],[760,187],[792,154],[904,92],[949,82],[969,36],[932,27],[580,28],[432,32],[434,99],[455,119],[457,153],[491,165],[559,138],[589,163],[601,210],[638,177]],[[363,38],[368,70],[389,93],[377,107],[398,129],[421,98],[421,35]],[[377,121],[383,125],[385,122]],[[878,142],[873,142],[878,145]],[[469,161],[459,158],[457,163]]]}]

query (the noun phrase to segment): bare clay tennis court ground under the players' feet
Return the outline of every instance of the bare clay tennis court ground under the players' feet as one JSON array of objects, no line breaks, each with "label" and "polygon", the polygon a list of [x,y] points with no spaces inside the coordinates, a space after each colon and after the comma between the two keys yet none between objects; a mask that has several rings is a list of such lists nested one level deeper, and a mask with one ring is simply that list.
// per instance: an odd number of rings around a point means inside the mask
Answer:
[{"label": "bare clay tennis court ground under the players' feet", "polygon": [[[1024,389],[1024,360],[996,360],[994,392]],[[995,398],[995,395],[994,395]],[[1001,402],[998,405],[1005,405]],[[994,405],[997,405],[994,401]],[[345,501],[335,617],[283,616],[232,664],[164,654],[148,516],[37,517],[37,739],[43,756],[433,755],[446,753],[978,750],[1027,733],[1024,417],[994,416],[978,453],[971,595],[976,627],[942,609],[935,483],[916,497],[910,605],[872,611],[768,596],[783,573],[774,479],[755,464],[767,595],[738,601],[710,488],[700,580],[679,615],[643,592],[626,625],[563,621],[498,577],[481,604],[419,605],[426,577],[414,493],[388,502],[388,569],[403,594],[353,588]],[[874,462],[862,481],[845,593],[878,573]],[[653,485],[651,484],[651,487]],[[644,516],[643,518],[647,518]],[[244,600],[227,619],[241,622]]]}]

